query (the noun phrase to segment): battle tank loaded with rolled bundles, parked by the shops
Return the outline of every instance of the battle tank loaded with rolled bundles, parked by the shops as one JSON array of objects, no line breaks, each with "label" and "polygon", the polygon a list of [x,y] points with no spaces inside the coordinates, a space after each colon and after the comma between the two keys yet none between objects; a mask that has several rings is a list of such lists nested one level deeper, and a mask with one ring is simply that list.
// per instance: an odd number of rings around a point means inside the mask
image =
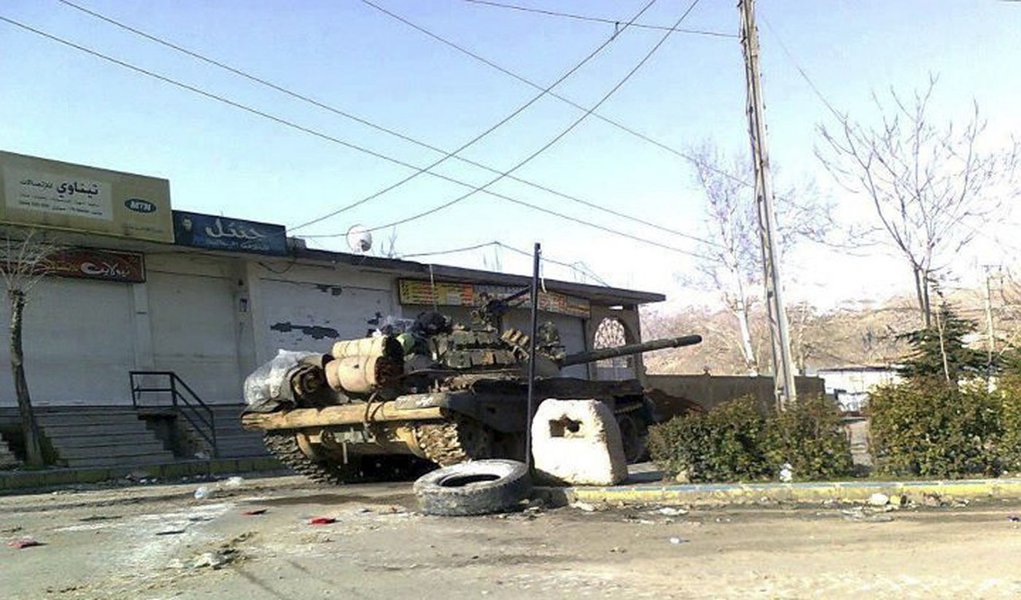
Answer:
[{"label": "battle tank loaded with rolled bundles, parked by the shops", "polygon": [[[247,430],[295,471],[323,483],[392,479],[428,462],[523,459],[529,337],[501,329],[507,300],[470,327],[438,312],[406,331],[336,342],[329,354],[281,353],[245,381]],[[562,377],[564,367],[701,342],[685,336],[567,354],[552,323],[536,338],[535,403],[596,399],[617,416],[629,461],[645,451],[653,407],[636,380]],[[428,462],[426,462],[428,461]]]}]

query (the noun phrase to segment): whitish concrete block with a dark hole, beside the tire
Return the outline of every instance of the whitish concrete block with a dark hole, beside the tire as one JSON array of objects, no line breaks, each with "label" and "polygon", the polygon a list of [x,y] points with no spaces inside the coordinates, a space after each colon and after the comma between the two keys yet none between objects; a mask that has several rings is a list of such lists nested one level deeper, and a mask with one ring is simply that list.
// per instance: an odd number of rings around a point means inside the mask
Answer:
[{"label": "whitish concrete block with a dark hole, beside the tire", "polygon": [[540,480],[612,486],[628,477],[614,412],[597,400],[548,399],[532,419],[532,456]]}]

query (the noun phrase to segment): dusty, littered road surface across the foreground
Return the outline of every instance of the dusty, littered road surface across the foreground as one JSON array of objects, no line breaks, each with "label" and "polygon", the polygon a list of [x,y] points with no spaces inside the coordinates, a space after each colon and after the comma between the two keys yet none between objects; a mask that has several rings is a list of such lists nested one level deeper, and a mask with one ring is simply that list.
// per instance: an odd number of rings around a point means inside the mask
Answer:
[{"label": "dusty, littered road surface across the foreground", "polygon": [[[1021,502],[533,509],[297,478],[0,497],[4,598],[1016,598]],[[206,484],[209,485],[209,484]],[[590,508],[590,507],[586,507]],[[245,511],[262,510],[246,515]],[[666,512],[671,512],[667,510]],[[336,522],[309,524],[327,516]],[[32,538],[42,546],[15,549]]]}]

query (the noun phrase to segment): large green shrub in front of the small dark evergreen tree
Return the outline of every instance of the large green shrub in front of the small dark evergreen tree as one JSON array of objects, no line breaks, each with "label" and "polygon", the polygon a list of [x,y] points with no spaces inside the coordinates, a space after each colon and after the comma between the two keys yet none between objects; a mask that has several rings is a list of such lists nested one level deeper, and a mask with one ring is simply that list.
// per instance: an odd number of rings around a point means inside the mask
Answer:
[{"label": "large green shrub in front of the small dark evergreen tree", "polygon": [[936,379],[877,388],[869,394],[877,472],[959,478],[996,474],[1002,400],[984,386]]}]

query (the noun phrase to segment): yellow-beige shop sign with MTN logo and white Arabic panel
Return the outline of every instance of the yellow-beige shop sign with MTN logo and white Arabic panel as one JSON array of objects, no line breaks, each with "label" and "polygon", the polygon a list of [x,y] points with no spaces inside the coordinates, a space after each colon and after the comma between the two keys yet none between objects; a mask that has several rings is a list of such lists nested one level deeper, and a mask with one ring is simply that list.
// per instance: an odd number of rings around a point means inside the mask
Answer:
[{"label": "yellow-beige shop sign with MTN logo and white Arabic panel", "polygon": [[0,152],[0,220],[171,242],[166,180]]}]

